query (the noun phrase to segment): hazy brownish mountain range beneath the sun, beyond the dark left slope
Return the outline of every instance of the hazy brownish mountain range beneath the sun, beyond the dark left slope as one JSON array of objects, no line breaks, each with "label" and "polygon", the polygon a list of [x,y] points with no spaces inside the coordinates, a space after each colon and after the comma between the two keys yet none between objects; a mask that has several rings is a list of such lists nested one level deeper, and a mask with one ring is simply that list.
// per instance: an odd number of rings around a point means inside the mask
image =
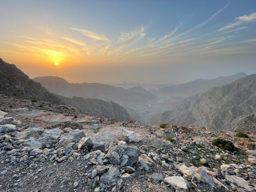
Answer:
[{"label": "hazy brownish mountain range beneath the sun, beyond the dark left slope", "polygon": [[156,98],[153,93],[138,87],[124,89],[100,83],[68,83],[56,76],[36,77],[33,80],[42,84],[48,91],[65,97],[101,99],[125,105],[146,103]]}]

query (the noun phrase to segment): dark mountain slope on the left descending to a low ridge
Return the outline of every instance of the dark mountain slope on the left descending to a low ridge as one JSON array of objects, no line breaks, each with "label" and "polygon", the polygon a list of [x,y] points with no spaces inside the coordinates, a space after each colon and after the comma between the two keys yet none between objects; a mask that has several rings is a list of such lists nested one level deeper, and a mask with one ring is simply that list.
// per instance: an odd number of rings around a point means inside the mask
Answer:
[{"label": "dark mountain slope on the left descending to a low ridge", "polygon": [[0,93],[28,100],[36,99],[54,104],[71,105],[94,116],[120,121],[130,120],[129,113],[117,103],[79,97],[65,98],[51,93],[40,83],[29,79],[14,64],[8,64],[2,59],[0,59]]}]

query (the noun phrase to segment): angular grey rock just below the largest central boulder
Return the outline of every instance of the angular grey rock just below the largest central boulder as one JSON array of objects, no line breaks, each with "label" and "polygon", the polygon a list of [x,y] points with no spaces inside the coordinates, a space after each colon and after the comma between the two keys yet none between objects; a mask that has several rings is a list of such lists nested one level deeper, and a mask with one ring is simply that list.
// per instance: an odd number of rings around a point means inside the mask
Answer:
[{"label": "angular grey rock just below the largest central boulder", "polygon": [[106,185],[112,185],[113,183],[117,183],[117,178],[119,174],[120,172],[117,167],[111,167],[109,168],[108,172],[105,172],[100,176],[100,182]]}]

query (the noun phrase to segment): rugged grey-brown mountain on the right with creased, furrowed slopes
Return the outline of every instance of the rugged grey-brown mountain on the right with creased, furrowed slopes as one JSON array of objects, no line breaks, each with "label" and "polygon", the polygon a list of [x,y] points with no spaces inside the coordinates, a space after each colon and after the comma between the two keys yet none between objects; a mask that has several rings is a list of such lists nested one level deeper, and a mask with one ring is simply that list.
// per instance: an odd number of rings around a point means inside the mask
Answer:
[{"label": "rugged grey-brown mountain on the right with creased, furrowed slopes", "polygon": [[[187,97],[154,119],[158,124],[198,124],[209,130],[221,131],[231,130],[231,122],[237,117],[255,112],[256,74],[253,74]],[[251,132],[256,132],[255,127]]]}]

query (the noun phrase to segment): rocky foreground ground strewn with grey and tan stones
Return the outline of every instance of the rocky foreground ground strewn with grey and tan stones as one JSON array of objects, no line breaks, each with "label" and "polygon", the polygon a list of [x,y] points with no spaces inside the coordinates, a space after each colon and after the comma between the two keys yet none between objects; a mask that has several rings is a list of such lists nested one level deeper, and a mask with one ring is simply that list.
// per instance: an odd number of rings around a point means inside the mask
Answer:
[{"label": "rocky foreground ground strewn with grey and tan stones", "polygon": [[[4,95],[0,110],[3,192],[256,192],[254,135],[118,122]],[[216,138],[236,150],[213,146]]]}]

